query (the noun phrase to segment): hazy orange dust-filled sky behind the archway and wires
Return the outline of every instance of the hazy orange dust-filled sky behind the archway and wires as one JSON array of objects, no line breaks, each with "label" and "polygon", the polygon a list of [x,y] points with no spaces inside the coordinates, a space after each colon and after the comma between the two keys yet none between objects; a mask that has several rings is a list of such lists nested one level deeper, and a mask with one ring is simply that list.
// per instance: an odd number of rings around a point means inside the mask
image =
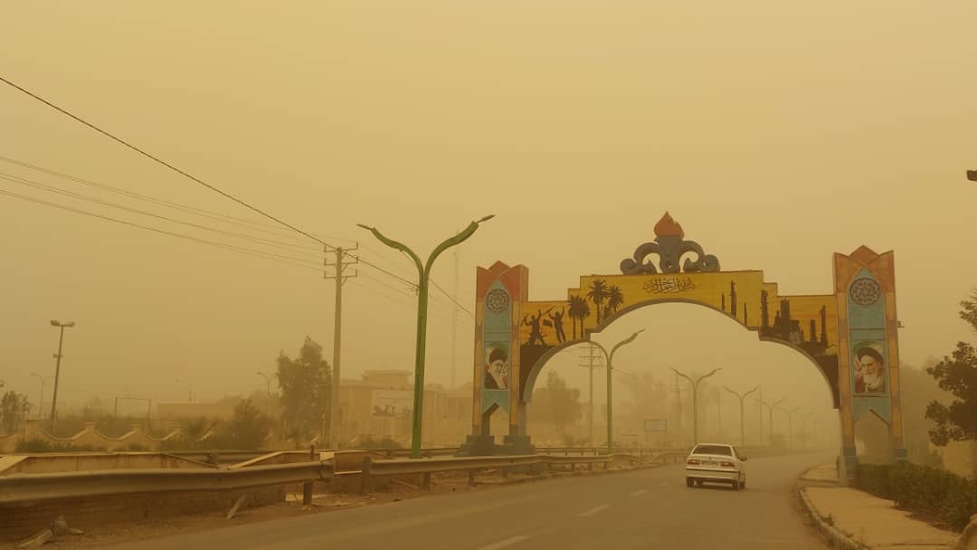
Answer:
[{"label": "hazy orange dust-filled sky behind the archway and wires", "polygon": [[[977,184],[964,180],[977,168],[974,21],[972,0],[11,1],[0,74],[305,231],[360,239],[364,259],[407,278],[411,264],[355,224],[426,255],[495,214],[459,250],[469,310],[476,266],[526,264],[531,298],[561,299],[579,275],[616,273],[665,210],[724,269],[764,270],[784,294],[830,292],[833,252],[895,250],[901,352],[919,364],[973,337],[956,310],[977,285]],[[0,156],[257,219],[7,86]],[[241,230],[4,161],[0,175]],[[261,247],[5,179],[0,190]],[[0,379],[32,400],[30,372],[54,371],[51,318],[78,323],[69,402],[186,399],[176,378],[199,401],[250,392],[307,334],[331,358],[333,289],[312,269],[9,196],[0,249]],[[360,273],[344,377],[411,368],[410,291]],[[434,278],[451,289],[449,255]],[[432,311],[428,381],[446,383],[451,304],[435,292]],[[458,326],[464,382],[474,325],[462,314]],[[762,376],[784,395],[820,379],[705,310],[644,310],[615,331],[637,326],[654,330],[632,368],[725,362],[729,383]]]}]

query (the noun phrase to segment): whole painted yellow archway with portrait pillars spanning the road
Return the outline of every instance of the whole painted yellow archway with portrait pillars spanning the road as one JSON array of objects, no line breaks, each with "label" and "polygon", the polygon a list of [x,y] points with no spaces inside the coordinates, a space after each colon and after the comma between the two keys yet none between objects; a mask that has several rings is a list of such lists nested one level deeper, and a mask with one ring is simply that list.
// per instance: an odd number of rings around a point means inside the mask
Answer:
[{"label": "whole painted yellow archway with portrait pillars spanning the road", "polygon": [[[856,462],[854,424],[869,413],[888,424],[896,458],[904,459],[893,253],[866,246],[836,253],[833,274],[829,294],[782,295],[763,272],[721,271],[719,259],[687,240],[667,213],[655,239],[623,259],[618,273],[581,276],[561,300],[529,300],[525,266],[479,268],[475,406],[463,452],[531,452],[526,405],[546,360],[629,311],[686,302],[732,317],[760,340],[785,344],[812,361],[840,412],[846,465]],[[508,413],[509,430],[496,445],[488,420],[499,409]]]}]

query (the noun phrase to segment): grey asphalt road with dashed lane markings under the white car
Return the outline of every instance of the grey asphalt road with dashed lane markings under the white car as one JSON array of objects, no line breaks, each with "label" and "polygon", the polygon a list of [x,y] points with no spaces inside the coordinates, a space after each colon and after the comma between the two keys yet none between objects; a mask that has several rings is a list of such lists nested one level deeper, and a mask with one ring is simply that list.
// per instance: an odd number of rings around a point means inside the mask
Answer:
[{"label": "grey asphalt road with dashed lane markings under the white car", "polygon": [[[792,488],[829,454],[755,458],[746,489],[685,487],[680,466],[422,497],[215,529],[131,550],[824,550]],[[117,547],[121,548],[121,547]]]}]

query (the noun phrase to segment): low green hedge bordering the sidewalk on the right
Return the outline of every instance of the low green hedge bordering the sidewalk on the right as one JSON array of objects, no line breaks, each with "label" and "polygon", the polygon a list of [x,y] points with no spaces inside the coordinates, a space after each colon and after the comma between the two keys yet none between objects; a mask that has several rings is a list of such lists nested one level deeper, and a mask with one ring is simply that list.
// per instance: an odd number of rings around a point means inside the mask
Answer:
[{"label": "low green hedge bordering the sidewalk on the right", "polygon": [[859,465],[855,486],[962,530],[977,513],[977,482],[917,464]]}]

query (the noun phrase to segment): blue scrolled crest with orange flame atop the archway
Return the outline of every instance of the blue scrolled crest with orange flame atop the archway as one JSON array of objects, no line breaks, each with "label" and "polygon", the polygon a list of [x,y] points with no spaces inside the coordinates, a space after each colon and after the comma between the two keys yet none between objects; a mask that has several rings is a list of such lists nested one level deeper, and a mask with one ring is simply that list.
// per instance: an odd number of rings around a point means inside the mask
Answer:
[{"label": "blue scrolled crest with orange flame atop the archway", "polygon": [[[696,254],[696,259],[686,258],[684,264],[679,264],[682,256],[687,253]],[[665,212],[658,224],[655,224],[655,241],[646,242],[634,251],[633,258],[627,258],[620,263],[620,273],[624,275],[657,274],[658,269],[647,257],[658,254],[658,268],[663,274],[684,273],[712,273],[719,271],[719,259],[702,251],[702,247],[694,240],[685,240],[682,226]]]}]

